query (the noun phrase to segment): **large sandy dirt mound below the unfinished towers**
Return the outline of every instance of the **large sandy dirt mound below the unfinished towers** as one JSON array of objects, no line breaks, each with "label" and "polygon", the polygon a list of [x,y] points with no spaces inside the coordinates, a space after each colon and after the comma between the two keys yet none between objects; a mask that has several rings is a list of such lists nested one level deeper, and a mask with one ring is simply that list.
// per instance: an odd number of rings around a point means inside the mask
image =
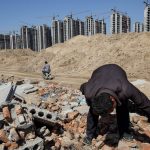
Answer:
[{"label": "large sandy dirt mound below the unfinished towers", "polygon": [[47,60],[53,73],[66,74],[91,74],[98,66],[116,63],[127,71],[129,77],[149,79],[149,39],[150,33],[77,36],[38,54],[25,53],[24,56],[22,52],[11,56],[6,53],[6,57],[9,55],[7,58],[0,54],[0,60],[6,62],[11,59],[14,61],[13,65],[22,64],[23,70],[36,72],[41,71],[44,61]]}]

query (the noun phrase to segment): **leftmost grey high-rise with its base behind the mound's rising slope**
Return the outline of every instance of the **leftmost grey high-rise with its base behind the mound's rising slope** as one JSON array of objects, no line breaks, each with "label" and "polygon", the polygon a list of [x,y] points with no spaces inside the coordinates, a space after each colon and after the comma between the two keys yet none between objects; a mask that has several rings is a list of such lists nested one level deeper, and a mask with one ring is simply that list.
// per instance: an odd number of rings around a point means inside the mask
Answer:
[{"label": "leftmost grey high-rise with its base behind the mound's rising slope", "polygon": [[52,45],[64,42],[63,22],[60,20],[52,20],[51,37]]}]

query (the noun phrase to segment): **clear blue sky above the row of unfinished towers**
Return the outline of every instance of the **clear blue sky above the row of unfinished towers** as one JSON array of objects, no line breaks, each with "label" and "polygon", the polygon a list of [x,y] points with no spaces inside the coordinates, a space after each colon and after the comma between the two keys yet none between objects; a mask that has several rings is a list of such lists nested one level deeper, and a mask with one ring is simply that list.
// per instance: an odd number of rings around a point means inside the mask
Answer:
[{"label": "clear blue sky above the row of unfinished towers", "polygon": [[143,22],[143,0],[1,0],[0,33],[20,30],[26,25],[51,25],[53,15],[60,20],[71,12],[73,17],[84,21],[85,16],[106,18],[107,31],[110,27],[110,10],[116,8],[131,17],[131,28],[135,21]]}]

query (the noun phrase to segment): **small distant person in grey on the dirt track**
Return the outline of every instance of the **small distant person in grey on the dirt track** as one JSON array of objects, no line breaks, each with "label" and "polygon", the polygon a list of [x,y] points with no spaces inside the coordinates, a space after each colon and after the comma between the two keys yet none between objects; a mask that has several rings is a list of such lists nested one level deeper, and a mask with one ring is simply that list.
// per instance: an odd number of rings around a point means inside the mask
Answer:
[{"label": "small distant person in grey on the dirt track", "polygon": [[45,79],[50,79],[51,68],[47,61],[45,61],[45,65],[42,68],[42,73]]}]

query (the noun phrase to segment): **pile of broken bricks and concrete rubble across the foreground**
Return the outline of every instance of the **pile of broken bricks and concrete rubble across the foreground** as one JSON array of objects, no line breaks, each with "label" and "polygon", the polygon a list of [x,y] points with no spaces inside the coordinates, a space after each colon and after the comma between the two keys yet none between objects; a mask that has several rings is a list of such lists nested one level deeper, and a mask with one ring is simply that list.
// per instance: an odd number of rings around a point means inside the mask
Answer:
[{"label": "pile of broken bricks and concrete rubble across the foreground", "polygon": [[89,107],[81,92],[52,83],[31,83],[0,85],[0,149],[150,149],[150,124],[134,113],[130,114],[134,141],[119,141],[114,112],[99,119],[92,145],[84,145]]}]

